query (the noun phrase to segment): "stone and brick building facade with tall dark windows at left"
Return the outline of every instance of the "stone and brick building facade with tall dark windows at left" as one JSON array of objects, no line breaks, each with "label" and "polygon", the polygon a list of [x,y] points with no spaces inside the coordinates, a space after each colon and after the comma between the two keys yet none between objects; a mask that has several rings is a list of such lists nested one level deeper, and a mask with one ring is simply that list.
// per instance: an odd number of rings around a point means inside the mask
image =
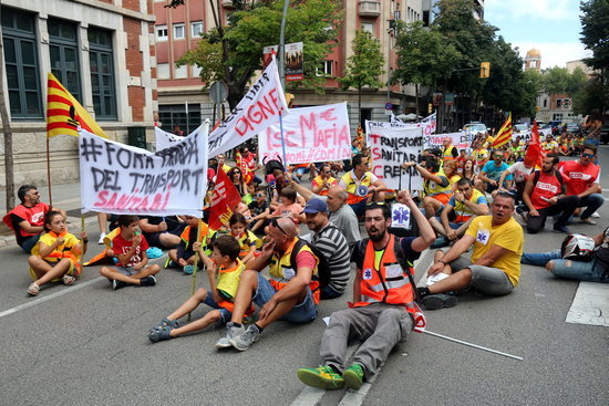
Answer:
[{"label": "stone and brick building facade with tall dark windows at left", "polygon": [[[156,60],[152,0],[2,0],[4,101],[14,184],[47,184],[47,76],[52,72],[111,138],[152,142]],[[51,179],[79,179],[75,137],[50,139]],[[0,144],[0,165],[6,152]],[[4,171],[0,187],[6,187]]]}]

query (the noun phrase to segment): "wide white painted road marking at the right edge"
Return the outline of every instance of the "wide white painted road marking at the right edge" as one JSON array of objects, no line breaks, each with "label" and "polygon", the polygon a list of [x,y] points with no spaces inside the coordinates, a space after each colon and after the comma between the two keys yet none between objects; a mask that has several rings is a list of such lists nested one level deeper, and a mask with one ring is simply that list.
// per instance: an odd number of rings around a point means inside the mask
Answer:
[{"label": "wide white painted road marking at the right edge", "polygon": [[565,322],[609,327],[609,285],[579,282]]}]

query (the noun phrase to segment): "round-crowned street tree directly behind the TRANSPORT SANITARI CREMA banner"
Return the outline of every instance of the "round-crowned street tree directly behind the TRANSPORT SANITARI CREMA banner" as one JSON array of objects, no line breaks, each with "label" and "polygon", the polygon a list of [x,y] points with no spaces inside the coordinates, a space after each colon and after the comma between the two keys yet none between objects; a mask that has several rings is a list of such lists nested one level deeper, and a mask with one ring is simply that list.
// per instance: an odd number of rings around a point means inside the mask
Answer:
[{"label": "round-crowned street tree directly behind the TRANSPORT SANITARI CREMA banner", "polygon": [[461,53],[453,44],[443,41],[437,28],[427,29],[422,21],[396,21],[395,52],[398,67],[391,75],[392,83],[415,84],[416,114],[419,115],[419,86],[435,90],[451,76]]}]

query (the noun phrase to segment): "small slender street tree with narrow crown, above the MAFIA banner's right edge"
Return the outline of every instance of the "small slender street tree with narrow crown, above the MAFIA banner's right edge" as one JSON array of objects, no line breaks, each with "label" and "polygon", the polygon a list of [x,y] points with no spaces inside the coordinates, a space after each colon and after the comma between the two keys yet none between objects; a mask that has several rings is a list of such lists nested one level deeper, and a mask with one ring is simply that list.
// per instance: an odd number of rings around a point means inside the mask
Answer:
[{"label": "small slender street tree with narrow crown, above the MAFIA banner's right edge", "polygon": [[343,89],[354,87],[358,90],[358,123],[362,114],[362,89],[364,86],[380,87],[383,85],[379,76],[383,71],[383,53],[381,43],[364,30],[357,30],[352,43],[353,54],[347,61],[344,75],[339,77]]}]

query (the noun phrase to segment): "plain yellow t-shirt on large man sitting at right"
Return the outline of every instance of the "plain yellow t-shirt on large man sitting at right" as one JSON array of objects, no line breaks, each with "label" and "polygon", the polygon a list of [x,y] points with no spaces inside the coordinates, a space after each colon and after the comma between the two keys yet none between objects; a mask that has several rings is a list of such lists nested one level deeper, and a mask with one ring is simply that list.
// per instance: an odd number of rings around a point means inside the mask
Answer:
[{"label": "plain yellow t-shirt on large man sitting at right", "polygon": [[467,236],[475,239],[472,262],[475,263],[494,244],[505,248],[508,252],[499,257],[493,263],[493,268],[504,271],[516,287],[520,278],[520,257],[525,240],[523,228],[514,218],[496,227],[493,227],[492,221],[493,216],[478,216],[467,228]]}]

